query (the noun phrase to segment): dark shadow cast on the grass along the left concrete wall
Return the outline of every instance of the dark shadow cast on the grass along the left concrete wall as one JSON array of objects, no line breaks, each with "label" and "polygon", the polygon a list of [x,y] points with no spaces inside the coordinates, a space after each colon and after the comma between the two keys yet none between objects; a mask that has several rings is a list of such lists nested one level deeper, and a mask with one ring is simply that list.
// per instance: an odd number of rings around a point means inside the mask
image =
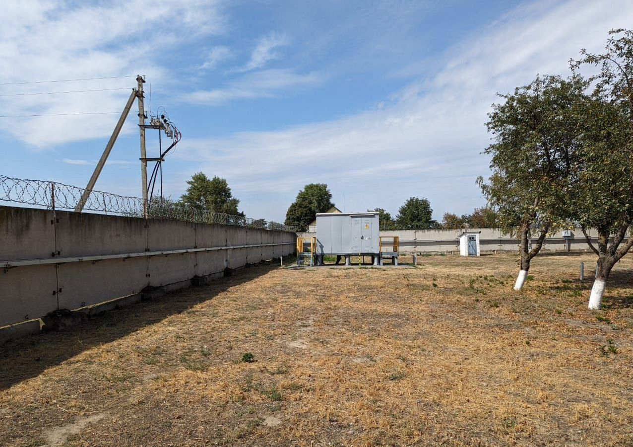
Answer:
[{"label": "dark shadow cast on the grass along the left concrete wall", "polygon": [[257,264],[234,271],[203,287],[203,293],[183,294],[182,290],[160,299],[143,301],[125,308],[99,314],[62,332],[42,332],[0,345],[0,390],[36,377],[51,366],[82,353],[86,349],[125,337],[140,328],[179,314],[213,299],[230,287],[265,275],[277,264]]}]

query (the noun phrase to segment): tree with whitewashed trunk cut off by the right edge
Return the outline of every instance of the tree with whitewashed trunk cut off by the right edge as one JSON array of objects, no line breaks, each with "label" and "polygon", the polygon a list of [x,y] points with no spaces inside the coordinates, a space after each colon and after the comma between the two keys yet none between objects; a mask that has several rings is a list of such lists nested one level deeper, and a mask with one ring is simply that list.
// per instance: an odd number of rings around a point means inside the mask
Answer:
[{"label": "tree with whitewashed trunk cut off by the right edge", "polygon": [[[582,50],[583,58],[571,63],[575,71],[600,69],[590,79],[594,91],[579,120],[582,146],[572,183],[572,217],[598,255],[589,309],[601,308],[611,269],[633,247],[633,31],[609,34],[605,53]],[[598,230],[596,245],[586,228]]]}]

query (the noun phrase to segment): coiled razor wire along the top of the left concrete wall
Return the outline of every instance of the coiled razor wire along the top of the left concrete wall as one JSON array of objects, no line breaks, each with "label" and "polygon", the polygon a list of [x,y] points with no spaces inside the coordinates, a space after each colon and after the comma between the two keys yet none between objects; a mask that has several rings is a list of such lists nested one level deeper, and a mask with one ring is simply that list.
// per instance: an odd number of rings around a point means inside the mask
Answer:
[{"label": "coiled razor wire along the top of the left concrete wall", "polygon": [[[78,188],[78,186],[64,185],[53,181],[0,176],[0,201],[5,202],[37,205],[46,209],[74,210],[84,191],[84,188]],[[139,197],[91,191],[84,204],[84,210],[143,217],[143,200]],[[148,217],[193,223],[245,226],[265,230],[294,231],[291,227],[277,222],[196,209],[171,200],[165,200],[165,202],[161,202],[160,199],[152,200],[149,204]]]}]

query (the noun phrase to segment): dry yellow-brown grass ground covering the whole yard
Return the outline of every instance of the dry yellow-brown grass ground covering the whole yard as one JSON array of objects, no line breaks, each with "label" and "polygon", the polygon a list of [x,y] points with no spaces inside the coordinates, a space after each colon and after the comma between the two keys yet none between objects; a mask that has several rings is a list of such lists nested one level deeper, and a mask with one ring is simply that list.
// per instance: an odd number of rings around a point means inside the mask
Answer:
[{"label": "dry yellow-brown grass ground covering the whole yard", "polygon": [[255,266],[0,346],[0,445],[633,445],[633,256],[599,312],[589,255],[522,292],[515,256],[418,262]]}]

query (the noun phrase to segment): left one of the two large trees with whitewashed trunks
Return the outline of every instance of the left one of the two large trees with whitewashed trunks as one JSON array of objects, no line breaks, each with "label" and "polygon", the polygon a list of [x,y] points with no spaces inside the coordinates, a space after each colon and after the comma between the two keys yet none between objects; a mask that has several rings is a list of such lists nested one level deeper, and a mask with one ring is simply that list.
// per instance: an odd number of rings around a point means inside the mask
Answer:
[{"label": "left one of the two large trees with whitewashed trunks", "polygon": [[578,146],[573,123],[585,88],[579,76],[539,76],[514,93],[499,95],[504,101],[488,114],[494,142],[484,153],[492,157],[492,176],[477,183],[498,211],[501,228],[518,236],[515,290],[523,287],[545,237],[565,221],[570,162]]}]

